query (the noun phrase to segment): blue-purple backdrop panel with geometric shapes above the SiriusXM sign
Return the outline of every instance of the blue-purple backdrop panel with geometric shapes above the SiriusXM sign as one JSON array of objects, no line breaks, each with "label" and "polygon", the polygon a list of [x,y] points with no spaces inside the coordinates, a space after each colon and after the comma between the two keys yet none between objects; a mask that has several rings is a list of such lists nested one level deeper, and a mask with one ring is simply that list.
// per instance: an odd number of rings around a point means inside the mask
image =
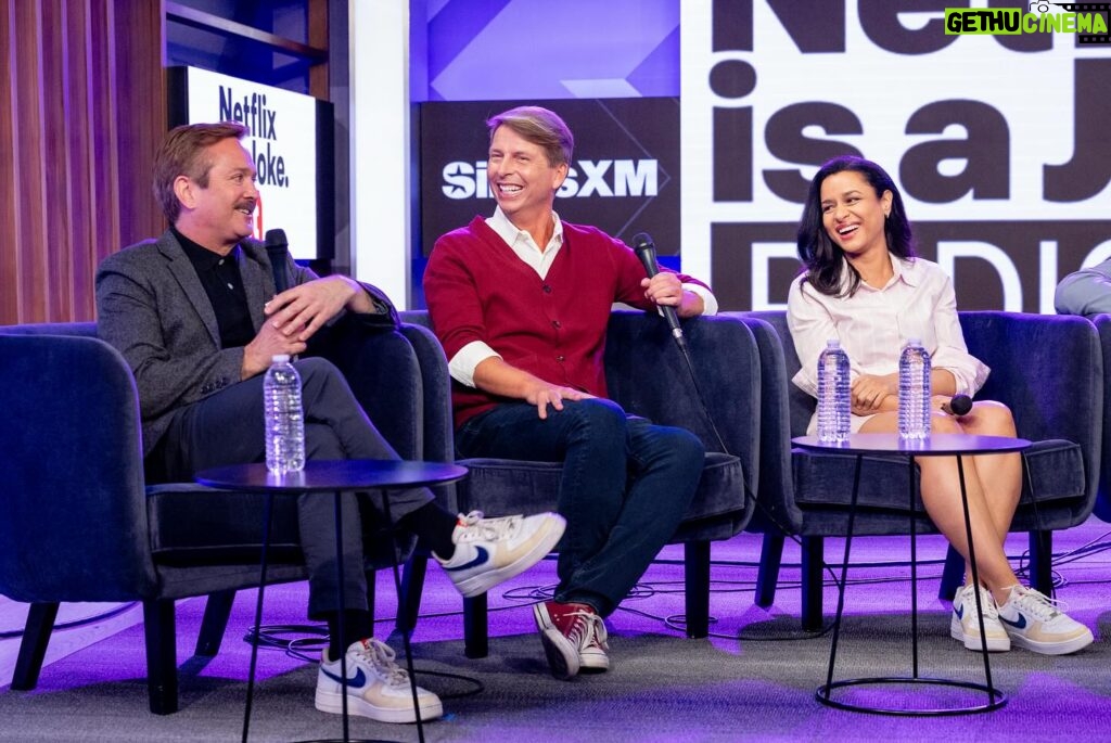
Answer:
[{"label": "blue-purple backdrop panel with geometric shapes above the SiriusXM sign", "polygon": [[428,90],[414,102],[679,96],[679,0],[418,3]]}]

